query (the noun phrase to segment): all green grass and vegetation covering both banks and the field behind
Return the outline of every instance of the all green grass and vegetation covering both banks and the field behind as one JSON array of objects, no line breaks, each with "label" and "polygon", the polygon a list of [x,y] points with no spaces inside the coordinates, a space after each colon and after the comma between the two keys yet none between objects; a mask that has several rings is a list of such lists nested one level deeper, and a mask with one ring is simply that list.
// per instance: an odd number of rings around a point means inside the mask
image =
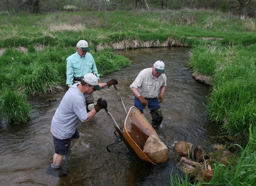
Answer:
[{"label": "all green grass and vegetation covering both banks and the field behind", "polygon": [[[26,96],[63,88],[65,59],[75,52],[80,39],[89,42],[101,75],[130,65],[113,49],[191,47],[191,69],[210,79],[210,120],[229,135],[250,134],[247,146],[240,144],[238,158],[230,160],[234,164],[226,167],[212,162],[214,176],[209,183],[252,185],[256,167],[256,20],[212,10],[108,12],[107,25],[104,18],[104,12],[0,15],[0,101],[8,121],[28,121]],[[170,179],[173,184],[191,185],[187,177]]]}]

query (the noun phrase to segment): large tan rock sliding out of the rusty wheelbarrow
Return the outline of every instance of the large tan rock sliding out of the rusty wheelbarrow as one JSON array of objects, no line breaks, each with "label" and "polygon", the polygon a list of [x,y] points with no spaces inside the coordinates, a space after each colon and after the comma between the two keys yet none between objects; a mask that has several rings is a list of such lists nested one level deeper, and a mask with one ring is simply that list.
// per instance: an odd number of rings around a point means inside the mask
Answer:
[{"label": "large tan rock sliding out of the rusty wheelbarrow", "polygon": [[156,164],[166,162],[169,159],[169,150],[157,135],[148,137],[143,152]]}]

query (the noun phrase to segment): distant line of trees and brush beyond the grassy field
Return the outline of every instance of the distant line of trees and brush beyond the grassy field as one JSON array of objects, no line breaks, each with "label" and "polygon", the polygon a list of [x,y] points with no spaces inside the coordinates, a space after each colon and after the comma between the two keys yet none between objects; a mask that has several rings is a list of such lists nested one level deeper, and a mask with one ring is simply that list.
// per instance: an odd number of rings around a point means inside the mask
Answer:
[{"label": "distant line of trees and brush beyond the grassy field", "polygon": [[0,12],[7,14],[195,8],[221,10],[241,18],[256,16],[256,0],[0,0],[0,4]]}]

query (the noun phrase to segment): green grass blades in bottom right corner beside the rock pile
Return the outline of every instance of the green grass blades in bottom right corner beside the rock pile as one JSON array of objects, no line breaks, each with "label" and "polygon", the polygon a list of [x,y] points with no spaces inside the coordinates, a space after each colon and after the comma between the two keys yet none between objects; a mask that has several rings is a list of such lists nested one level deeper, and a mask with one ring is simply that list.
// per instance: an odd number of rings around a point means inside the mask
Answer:
[{"label": "green grass blades in bottom right corner beside the rock pile", "polygon": [[[228,158],[225,162],[212,162],[214,174],[210,182],[204,182],[203,179],[195,180],[194,183],[188,182],[188,178],[182,178],[175,174],[170,176],[170,185],[179,186],[203,186],[203,185],[254,185],[256,182],[256,130],[249,127],[249,142],[238,152],[237,158]],[[216,159],[220,159],[217,157]]]}]

